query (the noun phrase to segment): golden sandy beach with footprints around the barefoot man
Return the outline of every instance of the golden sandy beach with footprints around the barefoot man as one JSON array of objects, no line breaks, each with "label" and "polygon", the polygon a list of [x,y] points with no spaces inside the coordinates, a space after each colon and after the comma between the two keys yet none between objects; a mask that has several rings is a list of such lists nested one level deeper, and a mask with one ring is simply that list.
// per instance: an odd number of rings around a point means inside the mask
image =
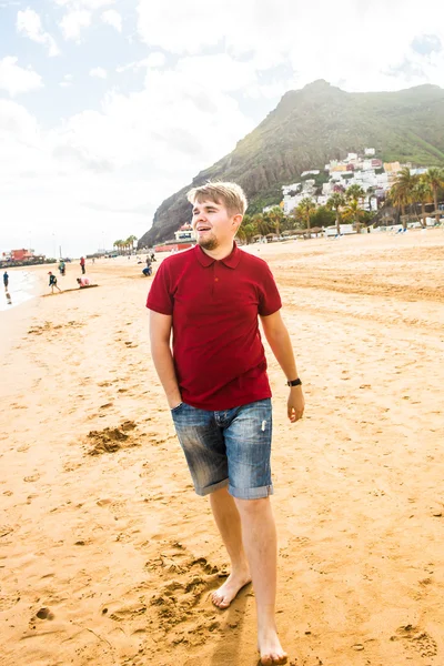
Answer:
[{"label": "golden sandy beach with footprints around the barefoot man", "polygon": [[[444,231],[250,251],[306,398],[291,426],[268,352],[289,664],[443,666]],[[1,666],[258,662],[251,586],[209,599],[228,561],[153,369],[142,268],[89,263],[98,289],[0,313]]]}]

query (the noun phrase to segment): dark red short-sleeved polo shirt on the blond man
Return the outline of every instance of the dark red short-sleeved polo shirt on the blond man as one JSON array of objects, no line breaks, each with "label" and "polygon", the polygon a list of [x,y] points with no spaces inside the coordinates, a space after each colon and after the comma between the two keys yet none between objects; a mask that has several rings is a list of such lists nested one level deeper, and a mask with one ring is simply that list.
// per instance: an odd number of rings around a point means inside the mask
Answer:
[{"label": "dark red short-sleeved polo shirt on the blond man", "polygon": [[235,243],[221,261],[199,245],[167,258],[147,307],[173,317],[183,402],[223,411],[271,397],[258,315],[273,314],[281,305],[268,264]]}]

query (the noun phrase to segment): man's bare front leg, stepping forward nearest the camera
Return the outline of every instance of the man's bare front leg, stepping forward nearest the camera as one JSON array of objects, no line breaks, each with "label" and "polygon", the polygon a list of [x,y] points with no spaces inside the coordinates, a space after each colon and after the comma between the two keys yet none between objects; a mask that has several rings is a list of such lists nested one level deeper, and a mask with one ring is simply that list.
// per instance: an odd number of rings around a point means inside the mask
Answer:
[{"label": "man's bare front leg, stepping forward nearest the camera", "polygon": [[278,539],[269,497],[235,500],[243,544],[253,578],[258,609],[258,646],[261,664],[285,664],[275,623]]}]

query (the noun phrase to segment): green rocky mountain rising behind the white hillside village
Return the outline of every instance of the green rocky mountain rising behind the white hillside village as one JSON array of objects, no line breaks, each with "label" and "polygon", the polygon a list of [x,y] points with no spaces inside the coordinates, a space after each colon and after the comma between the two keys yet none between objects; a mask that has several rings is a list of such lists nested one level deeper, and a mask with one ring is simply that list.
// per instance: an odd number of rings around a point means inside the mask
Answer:
[{"label": "green rocky mountain rising behind the white hillside village", "polygon": [[444,164],[444,90],[418,85],[397,92],[344,92],[326,81],[284,94],[276,109],[240,141],[229,155],[201,171],[155,211],[139,246],[174,238],[191,218],[185,194],[208,180],[241,184],[249,212],[279,203],[281,186],[303,171],[323,169],[347,152],[375,148],[385,162]]}]

